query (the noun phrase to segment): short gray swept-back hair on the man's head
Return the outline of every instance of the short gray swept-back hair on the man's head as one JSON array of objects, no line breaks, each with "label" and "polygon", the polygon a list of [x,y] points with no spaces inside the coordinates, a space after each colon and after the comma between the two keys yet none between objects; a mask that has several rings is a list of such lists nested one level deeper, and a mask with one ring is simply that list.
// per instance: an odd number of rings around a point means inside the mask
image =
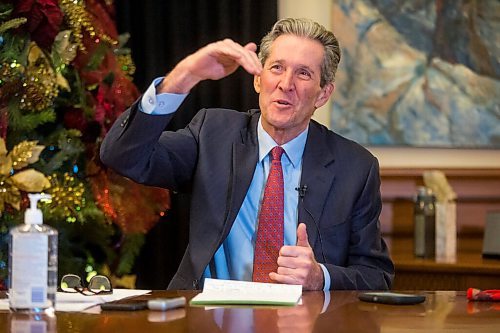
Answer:
[{"label": "short gray swept-back hair on the man's head", "polygon": [[326,30],[321,24],[310,19],[285,18],[276,22],[271,31],[260,42],[259,60],[262,65],[264,65],[271,53],[273,42],[279,36],[286,34],[317,40],[323,45],[325,55],[321,63],[320,86],[324,87],[328,83],[333,83],[340,61],[339,42],[333,32]]}]

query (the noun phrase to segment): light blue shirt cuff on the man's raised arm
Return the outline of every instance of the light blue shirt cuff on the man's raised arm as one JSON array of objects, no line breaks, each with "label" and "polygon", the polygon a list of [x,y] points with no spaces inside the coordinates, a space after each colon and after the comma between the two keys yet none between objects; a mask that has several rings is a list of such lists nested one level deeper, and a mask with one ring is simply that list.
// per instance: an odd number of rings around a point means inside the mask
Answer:
[{"label": "light blue shirt cuff on the man's raised arm", "polygon": [[162,77],[156,78],[142,95],[140,110],[147,114],[165,115],[174,113],[188,94],[156,94],[156,86],[161,83]]}]

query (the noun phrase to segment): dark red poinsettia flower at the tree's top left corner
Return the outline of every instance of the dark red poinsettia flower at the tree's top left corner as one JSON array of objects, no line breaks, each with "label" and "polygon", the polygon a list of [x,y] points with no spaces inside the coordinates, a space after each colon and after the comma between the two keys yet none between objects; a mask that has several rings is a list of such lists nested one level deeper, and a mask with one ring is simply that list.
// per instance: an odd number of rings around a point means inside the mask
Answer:
[{"label": "dark red poinsettia flower at the tree's top left corner", "polygon": [[31,39],[42,48],[50,48],[59,32],[63,13],[58,0],[19,0],[14,15],[26,17],[26,27]]}]

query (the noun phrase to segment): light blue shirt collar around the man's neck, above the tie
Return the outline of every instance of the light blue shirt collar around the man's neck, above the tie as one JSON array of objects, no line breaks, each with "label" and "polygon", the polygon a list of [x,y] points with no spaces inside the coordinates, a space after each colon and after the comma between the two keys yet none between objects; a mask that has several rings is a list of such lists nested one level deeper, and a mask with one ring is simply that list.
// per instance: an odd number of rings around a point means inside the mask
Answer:
[{"label": "light blue shirt collar around the man's neck, above the tie", "polygon": [[[298,136],[281,146],[285,150],[285,154],[294,168],[300,165],[302,154],[304,153],[304,148],[306,146],[308,132],[309,126]],[[259,118],[259,124],[257,125],[257,138],[259,141],[260,163],[269,154],[271,149],[278,146],[273,138],[264,130],[264,127],[262,127],[262,117]]]}]

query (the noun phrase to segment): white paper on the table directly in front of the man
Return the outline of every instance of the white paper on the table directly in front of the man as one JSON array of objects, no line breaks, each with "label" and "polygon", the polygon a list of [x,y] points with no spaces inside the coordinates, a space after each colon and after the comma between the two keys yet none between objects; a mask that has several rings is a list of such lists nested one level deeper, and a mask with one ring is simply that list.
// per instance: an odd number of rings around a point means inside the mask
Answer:
[{"label": "white paper on the table directly in front of the man", "polygon": [[205,279],[203,292],[190,304],[295,305],[301,296],[301,285]]}]

